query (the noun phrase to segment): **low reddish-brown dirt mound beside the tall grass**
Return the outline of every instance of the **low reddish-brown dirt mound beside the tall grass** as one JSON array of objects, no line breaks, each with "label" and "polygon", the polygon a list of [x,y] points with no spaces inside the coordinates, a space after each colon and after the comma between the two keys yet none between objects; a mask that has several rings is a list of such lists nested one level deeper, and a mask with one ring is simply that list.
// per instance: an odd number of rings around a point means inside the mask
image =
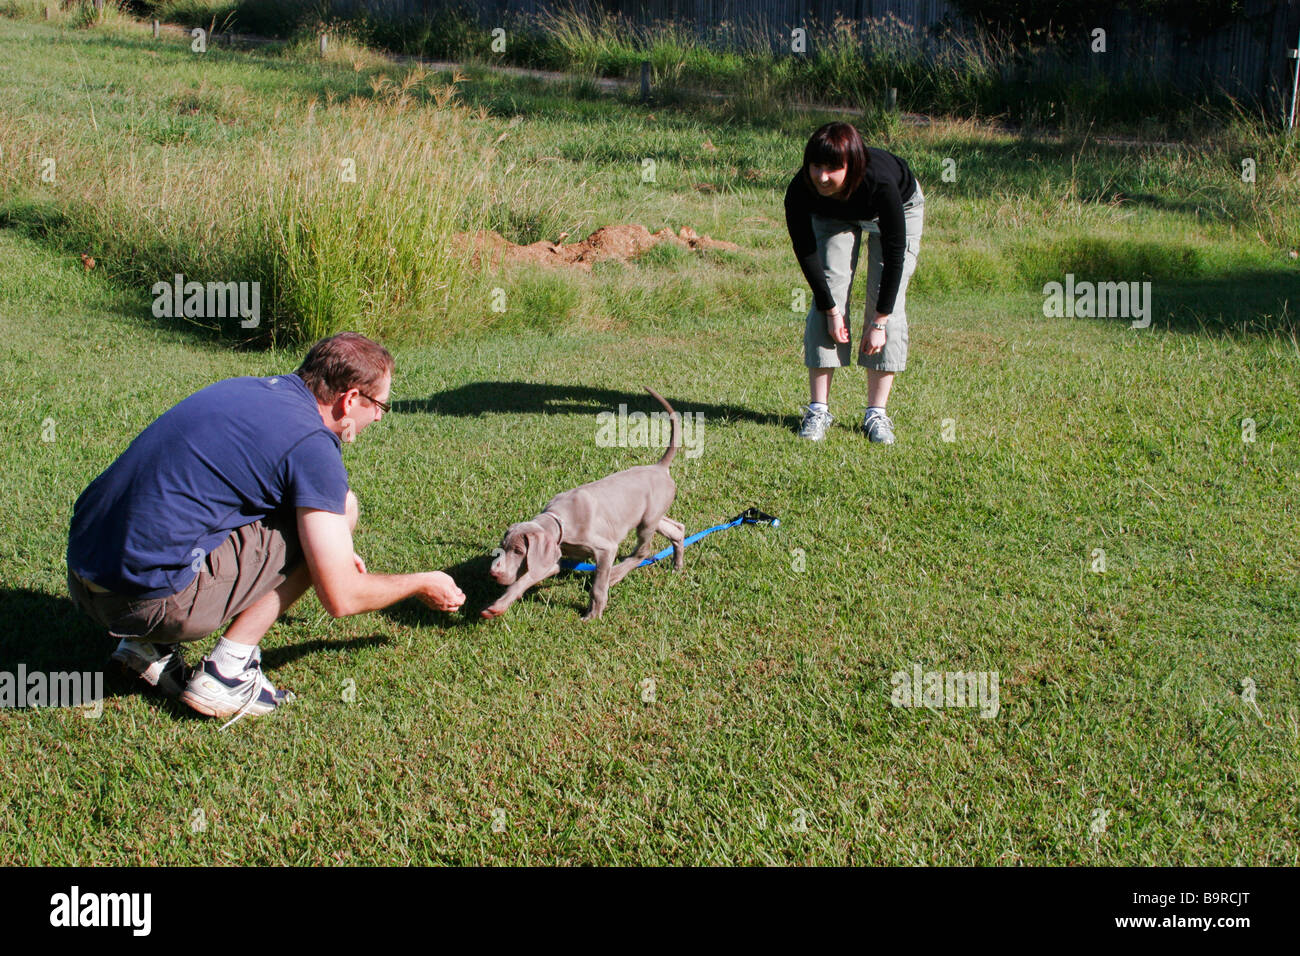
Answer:
[{"label": "low reddish-brown dirt mound beside the tall grass", "polygon": [[562,234],[558,242],[543,239],[528,246],[516,246],[499,233],[482,229],[477,233],[456,233],[455,242],[469,246],[471,260],[474,265],[478,264],[481,255],[486,255],[490,265],[532,263],[534,265],[568,265],[578,269],[590,269],[592,263],[606,259],[618,259],[620,263],[625,263],[660,242],[672,242],[696,251],[724,248],[734,252],[740,248],[734,242],[701,235],[690,226],[682,226],[673,235],[668,229],[651,233],[645,226],[614,225],[601,226],[581,242],[562,245],[566,238],[568,238],[567,233]]}]

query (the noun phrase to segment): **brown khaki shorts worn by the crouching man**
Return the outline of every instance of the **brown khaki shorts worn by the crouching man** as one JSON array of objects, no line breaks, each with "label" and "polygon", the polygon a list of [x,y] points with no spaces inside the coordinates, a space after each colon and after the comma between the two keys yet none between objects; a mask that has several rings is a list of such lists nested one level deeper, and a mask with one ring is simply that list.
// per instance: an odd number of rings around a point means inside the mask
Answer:
[{"label": "brown khaki shorts worn by the crouching man", "polygon": [[296,516],[272,515],[230,532],[185,591],[131,598],[68,572],[73,604],[117,639],[176,644],[207,637],[283,584],[303,562]]}]

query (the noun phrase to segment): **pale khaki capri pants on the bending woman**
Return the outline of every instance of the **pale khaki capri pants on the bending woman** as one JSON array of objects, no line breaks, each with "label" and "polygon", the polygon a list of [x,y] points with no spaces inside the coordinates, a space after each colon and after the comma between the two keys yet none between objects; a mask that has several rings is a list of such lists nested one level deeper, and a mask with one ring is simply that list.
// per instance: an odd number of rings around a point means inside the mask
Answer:
[{"label": "pale khaki capri pants on the bending woman", "polygon": [[[916,183],[916,191],[911,194],[911,199],[902,204],[902,212],[907,230],[907,247],[902,258],[902,278],[898,280],[894,311],[885,320],[885,347],[876,355],[858,352],[859,365],[879,372],[901,372],[907,367],[907,281],[916,271],[920,230],[926,219],[926,198],[920,194],[920,183]],[[857,346],[853,342],[853,312],[849,307],[849,294],[853,289],[853,276],[858,271],[858,251],[862,246],[863,230],[867,233],[864,321],[872,321],[876,297],[880,294],[880,273],[884,271],[879,224],[875,220],[849,221],[812,215],[816,250],[826,265],[826,281],[831,286],[835,304],[844,312],[849,341],[840,343],[831,338],[826,329],[826,312],[814,304],[809,310],[803,326],[803,364],[809,368],[841,368],[852,364],[850,354]]]}]

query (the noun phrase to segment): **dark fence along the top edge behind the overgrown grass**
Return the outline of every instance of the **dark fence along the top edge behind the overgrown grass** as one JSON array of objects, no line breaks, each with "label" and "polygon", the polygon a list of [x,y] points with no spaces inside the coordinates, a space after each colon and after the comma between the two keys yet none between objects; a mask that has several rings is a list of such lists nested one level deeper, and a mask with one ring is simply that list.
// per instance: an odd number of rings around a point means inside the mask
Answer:
[{"label": "dark fence along the top edge behind the overgrown grass", "polygon": [[[404,20],[432,17],[446,0],[334,0],[339,13],[367,10],[372,16]],[[675,22],[714,47],[753,44],[766,38],[774,51],[789,49],[790,30],[807,30],[809,51],[835,21],[879,26],[893,17],[913,27],[916,46],[933,55],[954,35],[971,34],[945,0],[459,0],[477,12],[485,27],[519,14],[545,14],[556,8],[614,13],[633,27]],[[1041,53],[1020,62],[1024,82],[1053,77],[1070,82],[1100,75],[1117,83],[1171,83],[1190,92],[1227,94],[1278,116],[1290,104],[1295,48],[1300,33],[1300,0],[1247,0],[1244,13],[1200,39],[1180,35],[1162,22],[1119,14],[1098,18],[1106,31],[1105,53],[1091,51],[1091,29],[1074,51]],[[945,39],[948,38],[948,39]]]}]

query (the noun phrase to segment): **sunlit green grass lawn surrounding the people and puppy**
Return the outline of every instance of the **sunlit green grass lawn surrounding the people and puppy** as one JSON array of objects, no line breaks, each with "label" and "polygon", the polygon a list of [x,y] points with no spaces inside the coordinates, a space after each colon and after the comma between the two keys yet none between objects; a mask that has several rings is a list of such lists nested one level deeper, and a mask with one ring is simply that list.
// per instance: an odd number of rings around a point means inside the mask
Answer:
[{"label": "sunlit green grass lawn surrounding the people and puppy", "polygon": [[[0,18],[0,671],[104,669],[64,584],[77,494],[181,398],[304,351],[153,319],[151,269],[202,263],[229,224],[136,242],[146,215],[86,183],[273,156],[332,94],[360,111],[406,69],[208,56]],[[881,121],[927,196],[898,444],[854,432],[850,369],[807,445],[781,196],[818,117],[480,74],[458,98],[482,172],[464,228],[690,225],[741,251],[472,273],[425,313],[395,294],[422,321],[393,329],[395,412],[344,451],[370,570],[447,568],[467,610],[491,601],[510,523],[658,457],[595,441],[598,412],[655,408],[642,385],[705,416],[671,514],[781,527],[633,572],[590,624],[582,575],[491,623],[413,602],[332,620],[308,594],[264,643],[298,700],[226,732],[112,676],[98,719],[0,709],[0,862],[1300,862],[1294,146]],[[40,193],[51,144],[75,159]],[[1071,272],[1152,281],[1152,326],[1045,317]],[[893,706],[918,665],[997,672],[997,714]]]}]

